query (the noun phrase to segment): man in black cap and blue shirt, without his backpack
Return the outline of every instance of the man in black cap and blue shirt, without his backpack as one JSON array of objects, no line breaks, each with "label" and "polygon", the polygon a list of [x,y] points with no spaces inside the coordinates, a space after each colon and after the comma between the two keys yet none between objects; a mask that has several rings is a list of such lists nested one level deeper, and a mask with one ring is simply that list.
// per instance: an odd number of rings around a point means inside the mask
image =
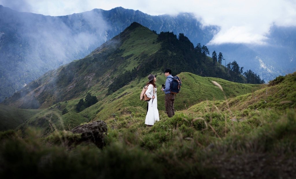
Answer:
[{"label": "man in black cap and blue shirt, without his backpack", "polygon": [[165,81],[165,88],[162,88],[161,90],[165,92],[165,110],[168,114],[168,117],[173,117],[173,115],[175,115],[175,109],[174,109],[175,95],[172,95],[170,93],[170,85],[173,82],[173,76],[171,75],[172,70],[167,68],[165,69],[164,73],[167,79]]}]

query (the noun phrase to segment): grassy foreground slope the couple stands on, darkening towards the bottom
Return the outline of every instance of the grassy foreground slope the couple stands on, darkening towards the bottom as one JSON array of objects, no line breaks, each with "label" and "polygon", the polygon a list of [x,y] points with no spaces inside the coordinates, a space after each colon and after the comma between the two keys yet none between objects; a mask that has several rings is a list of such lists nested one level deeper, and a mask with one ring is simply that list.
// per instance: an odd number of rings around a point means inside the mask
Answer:
[{"label": "grassy foreground slope the couple stands on, darkening towards the bottom", "polygon": [[[190,73],[181,75],[186,79]],[[16,132],[2,132],[0,164],[5,167],[0,174],[17,177],[20,172],[10,172],[15,169],[32,175],[38,166],[38,177],[291,178],[296,175],[295,81],[296,73],[289,74],[274,86],[204,101],[172,118],[160,111],[153,127],[144,124],[145,111],[109,116],[103,149],[88,143],[69,147],[67,141],[75,137],[67,131],[44,138],[31,130],[26,140]],[[227,84],[220,83],[227,93]],[[15,154],[13,161],[7,157]]]}]

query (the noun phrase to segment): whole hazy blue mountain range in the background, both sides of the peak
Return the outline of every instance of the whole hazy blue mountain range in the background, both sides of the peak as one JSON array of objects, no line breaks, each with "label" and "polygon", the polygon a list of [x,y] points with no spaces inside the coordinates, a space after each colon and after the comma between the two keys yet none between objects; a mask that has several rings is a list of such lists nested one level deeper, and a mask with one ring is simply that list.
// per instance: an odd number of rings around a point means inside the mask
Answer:
[{"label": "whole hazy blue mountain range in the background, both sides of the peak", "polygon": [[[206,45],[220,30],[218,26],[202,27],[190,13],[151,16],[117,7],[52,17],[0,5],[0,101],[47,71],[85,57],[132,22],[157,33],[184,33],[194,45]],[[273,26],[267,46],[222,44],[208,48],[222,52],[227,63],[236,60],[268,81],[294,71],[295,29]]]}]

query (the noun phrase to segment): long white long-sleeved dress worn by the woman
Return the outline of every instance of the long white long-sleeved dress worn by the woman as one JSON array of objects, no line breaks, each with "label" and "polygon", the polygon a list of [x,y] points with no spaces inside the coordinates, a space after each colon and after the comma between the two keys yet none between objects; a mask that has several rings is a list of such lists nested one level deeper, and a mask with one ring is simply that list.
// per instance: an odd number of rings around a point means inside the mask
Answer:
[{"label": "long white long-sleeved dress worn by the woman", "polygon": [[[157,89],[155,88],[154,91],[154,99],[151,99],[148,102],[148,111],[145,119],[145,124],[147,125],[154,125],[156,121],[159,121],[159,114],[157,109],[157,95],[156,95]],[[148,98],[152,98],[153,96],[153,85],[149,84],[148,89],[146,91],[146,95]],[[152,103],[153,102],[153,103]]]}]

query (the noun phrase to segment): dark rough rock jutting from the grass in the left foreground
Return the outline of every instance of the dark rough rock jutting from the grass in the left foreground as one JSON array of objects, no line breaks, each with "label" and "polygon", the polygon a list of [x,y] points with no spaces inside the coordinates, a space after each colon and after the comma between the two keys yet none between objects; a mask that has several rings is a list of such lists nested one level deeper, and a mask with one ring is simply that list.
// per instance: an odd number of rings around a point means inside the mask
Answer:
[{"label": "dark rough rock jutting from the grass in the left foreground", "polygon": [[71,130],[74,134],[81,134],[81,141],[93,142],[97,147],[104,147],[104,137],[107,135],[107,124],[104,121],[95,121],[83,124]]}]

